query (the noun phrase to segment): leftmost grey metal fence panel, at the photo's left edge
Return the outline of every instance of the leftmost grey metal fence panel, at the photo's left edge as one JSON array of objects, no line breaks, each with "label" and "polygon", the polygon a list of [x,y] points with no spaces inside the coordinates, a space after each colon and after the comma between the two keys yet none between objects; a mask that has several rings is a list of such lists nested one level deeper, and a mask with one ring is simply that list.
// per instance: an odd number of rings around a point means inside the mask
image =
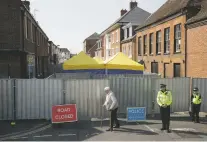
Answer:
[{"label": "leftmost grey metal fence panel, at the photo's left edge", "polygon": [[12,120],[14,102],[13,80],[0,80],[0,120]]}]

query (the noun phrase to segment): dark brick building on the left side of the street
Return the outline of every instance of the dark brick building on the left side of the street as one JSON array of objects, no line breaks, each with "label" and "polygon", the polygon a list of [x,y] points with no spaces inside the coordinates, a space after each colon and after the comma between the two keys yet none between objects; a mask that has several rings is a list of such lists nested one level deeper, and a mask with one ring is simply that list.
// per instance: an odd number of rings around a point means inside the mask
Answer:
[{"label": "dark brick building on the left side of the street", "polygon": [[30,3],[0,1],[0,77],[48,75],[48,37],[30,13]]}]

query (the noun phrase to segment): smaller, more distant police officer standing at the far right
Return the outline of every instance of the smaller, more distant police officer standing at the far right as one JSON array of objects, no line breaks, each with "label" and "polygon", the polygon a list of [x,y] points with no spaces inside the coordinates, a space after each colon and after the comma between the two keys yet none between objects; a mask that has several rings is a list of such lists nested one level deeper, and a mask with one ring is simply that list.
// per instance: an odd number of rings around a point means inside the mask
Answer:
[{"label": "smaller, more distant police officer standing at the far right", "polygon": [[[201,95],[197,87],[193,89],[193,94],[191,96],[191,106],[192,106],[192,121],[195,123],[200,123],[199,112],[201,107]],[[195,120],[196,115],[196,120]]]}]

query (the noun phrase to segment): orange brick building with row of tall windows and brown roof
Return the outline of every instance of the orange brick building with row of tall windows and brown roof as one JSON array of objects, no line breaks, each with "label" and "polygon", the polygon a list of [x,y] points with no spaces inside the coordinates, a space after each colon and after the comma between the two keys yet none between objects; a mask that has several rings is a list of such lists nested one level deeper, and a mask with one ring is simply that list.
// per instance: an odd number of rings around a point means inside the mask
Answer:
[{"label": "orange brick building with row of tall windows and brown roof", "polygon": [[162,77],[187,76],[187,20],[200,10],[201,0],[168,0],[136,29],[137,61]]}]

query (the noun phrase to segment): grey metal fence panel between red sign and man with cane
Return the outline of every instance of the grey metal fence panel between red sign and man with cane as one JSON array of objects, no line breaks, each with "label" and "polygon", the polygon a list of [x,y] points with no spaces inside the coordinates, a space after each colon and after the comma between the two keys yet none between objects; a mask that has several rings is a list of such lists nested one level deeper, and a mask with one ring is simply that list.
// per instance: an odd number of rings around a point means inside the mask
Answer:
[{"label": "grey metal fence panel between red sign and man with cane", "polygon": [[108,80],[86,79],[86,80],[67,80],[65,81],[66,103],[76,103],[78,119],[100,118],[107,115],[103,110],[102,104],[104,87],[109,86]]}]

